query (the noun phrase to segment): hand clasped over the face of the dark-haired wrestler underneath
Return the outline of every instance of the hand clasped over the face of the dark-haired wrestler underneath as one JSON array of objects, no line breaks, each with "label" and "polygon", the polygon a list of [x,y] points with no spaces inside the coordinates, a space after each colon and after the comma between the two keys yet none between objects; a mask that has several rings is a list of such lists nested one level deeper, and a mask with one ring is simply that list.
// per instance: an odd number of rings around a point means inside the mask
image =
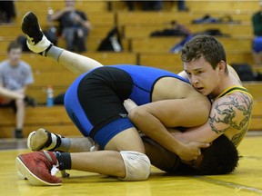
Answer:
[{"label": "hand clasped over the face of the dark-haired wrestler underneath", "polygon": [[185,144],[185,148],[179,152],[178,156],[184,161],[196,160],[201,154],[201,148],[207,148],[209,143],[204,142],[188,142]]}]

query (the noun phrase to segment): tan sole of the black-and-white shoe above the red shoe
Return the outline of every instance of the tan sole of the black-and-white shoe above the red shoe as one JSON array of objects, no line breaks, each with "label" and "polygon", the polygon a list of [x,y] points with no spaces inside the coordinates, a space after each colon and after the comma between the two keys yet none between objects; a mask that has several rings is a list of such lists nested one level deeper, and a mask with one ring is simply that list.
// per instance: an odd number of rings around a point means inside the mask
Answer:
[{"label": "tan sole of the black-and-white shoe above the red shoe", "polygon": [[44,129],[37,130],[34,134],[28,136],[27,146],[32,151],[40,151],[45,148],[45,143],[48,141],[47,133]]}]

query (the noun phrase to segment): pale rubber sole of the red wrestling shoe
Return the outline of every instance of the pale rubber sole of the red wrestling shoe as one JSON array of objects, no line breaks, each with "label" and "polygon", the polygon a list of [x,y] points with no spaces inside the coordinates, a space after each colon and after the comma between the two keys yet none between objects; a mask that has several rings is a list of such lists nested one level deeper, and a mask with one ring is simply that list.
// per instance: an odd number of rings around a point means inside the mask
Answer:
[{"label": "pale rubber sole of the red wrestling shoe", "polygon": [[18,178],[27,179],[28,181],[30,181],[31,184],[35,186],[60,186],[62,184],[62,183],[49,183],[41,180],[40,178],[35,176],[34,173],[28,170],[24,162],[22,162],[19,157],[16,157],[15,166],[18,172]]}]

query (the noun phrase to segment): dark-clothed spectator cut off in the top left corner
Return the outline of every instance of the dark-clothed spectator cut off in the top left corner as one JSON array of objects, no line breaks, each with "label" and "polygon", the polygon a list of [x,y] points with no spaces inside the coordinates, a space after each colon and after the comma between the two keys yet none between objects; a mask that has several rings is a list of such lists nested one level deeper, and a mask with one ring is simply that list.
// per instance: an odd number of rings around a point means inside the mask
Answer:
[{"label": "dark-clothed spectator cut off in the top left corner", "polygon": [[16,16],[15,3],[12,0],[0,1],[0,23],[11,23]]}]

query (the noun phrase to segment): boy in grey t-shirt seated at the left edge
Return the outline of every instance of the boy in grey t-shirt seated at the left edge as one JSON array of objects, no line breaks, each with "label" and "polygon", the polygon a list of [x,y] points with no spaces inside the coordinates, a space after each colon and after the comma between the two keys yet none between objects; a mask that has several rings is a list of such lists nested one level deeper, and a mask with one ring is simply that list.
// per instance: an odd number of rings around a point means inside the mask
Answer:
[{"label": "boy in grey t-shirt seated at the left edge", "polygon": [[0,63],[0,107],[15,110],[15,138],[23,138],[25,101],[33,101],[25,96],[26,86],[34,83],[29,64],[20,60],[22,45],[11,42],[7,48],[8,59]]}]

